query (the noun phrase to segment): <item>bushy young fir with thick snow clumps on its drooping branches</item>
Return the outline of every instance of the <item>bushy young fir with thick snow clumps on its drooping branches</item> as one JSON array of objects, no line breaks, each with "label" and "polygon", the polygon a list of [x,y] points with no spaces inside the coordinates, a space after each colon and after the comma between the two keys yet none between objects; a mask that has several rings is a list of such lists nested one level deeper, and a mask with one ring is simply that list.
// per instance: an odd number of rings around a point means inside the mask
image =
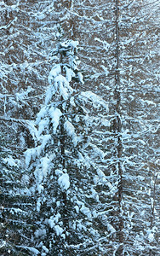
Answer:
[{"label": "bushy young fir with thick snow clumps on its drooping branches", "polygon": [[77,41],[60,43],[57,51],[60,63],[49,73],[45,103],[32,130],[36,146],[26,151],[36,205],[35,247],[43,255],[94,255],[101,250],[94,187],[103,178],[95,159],[102,160],[104,153],[90,135],[102,116],[90,113],[107,111],[107,104],[81,91]]}]

